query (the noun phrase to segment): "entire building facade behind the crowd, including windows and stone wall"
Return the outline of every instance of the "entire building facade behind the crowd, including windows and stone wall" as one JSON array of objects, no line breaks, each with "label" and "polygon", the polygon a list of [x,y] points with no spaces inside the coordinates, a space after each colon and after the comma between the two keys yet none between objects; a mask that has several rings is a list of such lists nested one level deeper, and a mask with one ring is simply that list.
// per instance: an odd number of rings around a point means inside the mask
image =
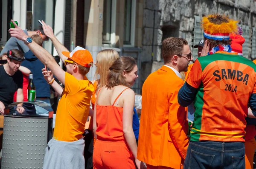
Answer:
[{"label": "entire building facade behind the crowd, including windows and stone wall", "polygon": [[[139,74],[133,86],[136,93],[141,93],[147,76],[163,65],[163,39],[185,38],[197,58],[197,49],[192,46],[203,38],[203,15],[228,14],[239,20],[245,38],[243,55],[256,59],[256,0],[0,0],[0,8],[1,47],[9,39],[10,19],[28,30],[44,20],[67,49],[86,48],[94,61],[102,49],[134,57]],[[44,42],[44,48],[58,55],[50,41]],[[95,66],[91,68],[88,79],[97,78],[95,70]]]}]

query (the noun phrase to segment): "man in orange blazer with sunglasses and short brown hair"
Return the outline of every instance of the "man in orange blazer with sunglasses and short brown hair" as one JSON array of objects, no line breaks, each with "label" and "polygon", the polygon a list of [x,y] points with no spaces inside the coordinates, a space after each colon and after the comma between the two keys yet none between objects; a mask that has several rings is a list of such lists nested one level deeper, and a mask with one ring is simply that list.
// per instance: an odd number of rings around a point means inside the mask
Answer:
[{"label": "man in orange blazer with sunglasses and short brown hair", "polygon": [[181,169],[189,144],[185,107],[177,101],[192,54],[183,38],[162,42],[164,64],[151,73],[142,88],[142,111],[137,158],[147,169]]}]

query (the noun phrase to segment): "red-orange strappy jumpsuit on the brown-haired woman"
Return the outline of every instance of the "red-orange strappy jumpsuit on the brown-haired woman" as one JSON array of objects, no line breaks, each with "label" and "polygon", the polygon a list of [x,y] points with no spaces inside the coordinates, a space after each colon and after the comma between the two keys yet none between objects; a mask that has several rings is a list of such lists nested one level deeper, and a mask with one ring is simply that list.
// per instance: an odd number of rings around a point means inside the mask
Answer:
[{"label": "red-orange strappy jumpsuit on the brown-haired woman", "polygon": [[117,96],[113,105],[95,103],[97,140],[93,151],[93,169],[135,169],[134,156],[123,134],[123,108],[115,106],[125,90]]}]

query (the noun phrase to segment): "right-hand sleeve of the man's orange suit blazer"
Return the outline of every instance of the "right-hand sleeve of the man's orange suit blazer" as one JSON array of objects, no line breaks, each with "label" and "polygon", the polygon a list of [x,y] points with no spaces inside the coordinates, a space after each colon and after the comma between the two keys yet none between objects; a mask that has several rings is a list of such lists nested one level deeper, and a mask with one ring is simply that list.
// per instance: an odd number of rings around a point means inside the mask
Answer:
[{"label": "right-hand sleeve of the man's orange suit blazer", "polygon": [[183,83],[177,82],[175,85],[177,86],[173,86],[173,90],[169,93],[168,128],[173,144],[180,153],[180,156],[185,159],[189,145],[187,113],[185,107],[180,106],[177,99],[178,91]]}]

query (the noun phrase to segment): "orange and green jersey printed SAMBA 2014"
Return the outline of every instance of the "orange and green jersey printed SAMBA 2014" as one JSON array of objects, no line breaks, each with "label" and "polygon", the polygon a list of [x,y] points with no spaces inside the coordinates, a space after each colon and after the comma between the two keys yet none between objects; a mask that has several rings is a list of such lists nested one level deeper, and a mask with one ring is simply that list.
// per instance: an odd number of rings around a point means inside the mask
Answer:
[{"label": "orange and green jersey printed SAMBA 2014", "polygon": [[186,82],[198,89],[191,141],[244,141],[256,65],[237,53],[218,51],[199,57]]}]

